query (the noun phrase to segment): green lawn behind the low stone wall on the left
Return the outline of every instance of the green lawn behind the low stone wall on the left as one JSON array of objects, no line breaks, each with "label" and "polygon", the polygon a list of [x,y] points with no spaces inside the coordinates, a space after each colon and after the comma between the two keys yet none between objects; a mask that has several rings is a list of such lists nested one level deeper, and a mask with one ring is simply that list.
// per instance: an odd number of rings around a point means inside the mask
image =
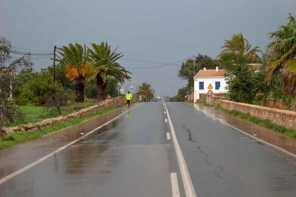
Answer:
[{"label": "green lawn behind the low stone wall on the left", "polygon": [[59,115],[67,115],[69,113],[75,112],[76,110],[81,110],[83,108],[90,107],[90,106],[95,105],[97,103],[98,102],[84,102],[84,103],[72,102],[67,107],[67,110],[62,111],[62,114],[47,113],[46,108],[42,107],[42,106],[34,106],[34,105],[19,106],[20,110],[22,110],[22,112],[25,113],[25,120],[9,123],[9,124],[5,125],[5,127],[19,126],[20,124],[36,123],[36,122],[42,121],[46,118],[54,118]]}]

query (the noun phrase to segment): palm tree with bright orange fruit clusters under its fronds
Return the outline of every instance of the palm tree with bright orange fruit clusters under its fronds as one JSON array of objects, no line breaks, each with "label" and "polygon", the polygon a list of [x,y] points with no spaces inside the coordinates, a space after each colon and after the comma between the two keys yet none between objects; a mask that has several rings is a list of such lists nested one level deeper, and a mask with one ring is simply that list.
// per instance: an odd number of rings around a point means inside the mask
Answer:
[{"label": "palm tree with bright orange fruit clusters under its fronds", "polygon": [[84,102],[84,86],[85,78],[90,75],[89,55],[82,45],[70,43],[68,46],[57,48],[59,54],[63,56],[62,59],[56,59],[62,64],[66,65],[66,77],[74,80],[76,91],[76,102]]}]

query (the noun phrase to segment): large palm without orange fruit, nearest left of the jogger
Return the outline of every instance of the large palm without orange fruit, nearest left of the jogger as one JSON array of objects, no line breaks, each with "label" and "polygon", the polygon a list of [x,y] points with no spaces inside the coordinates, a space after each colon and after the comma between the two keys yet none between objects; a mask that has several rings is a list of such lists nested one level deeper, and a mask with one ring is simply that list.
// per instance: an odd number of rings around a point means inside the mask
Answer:
[{"label": "large palm without orange fruit, nearest left of the jogger", "polygon": [[128,74],[132,73],[116,62],[123,56],[122,53],[115,53],[117,48],[111,52],[111,45],[108,45],[107,42],[102,42],[100,45],[91,43],[91,45],[94,51],[89,49],[89,56],[92,60],[90,78],[96,78],[97,96],[102,98],[105,97],[107,76],[113,76],[119,82],[123,82],[125,79],[131,79]]}]

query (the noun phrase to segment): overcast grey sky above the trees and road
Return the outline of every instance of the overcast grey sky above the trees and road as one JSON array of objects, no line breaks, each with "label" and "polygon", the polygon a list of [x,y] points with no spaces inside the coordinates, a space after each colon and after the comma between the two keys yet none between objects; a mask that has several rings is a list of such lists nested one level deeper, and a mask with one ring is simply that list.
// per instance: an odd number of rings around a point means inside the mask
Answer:
[{"label": "overcast grey sky above the trees and road", "polygon": [[[225,39],[242,32],[262,51],[266,33],[295,15],[295,0],[0,0],[0,35],[14,47],[53,50],[70,42],[118,46],[125,58],[172,63],[197,53],[215,58]],[[39,57],[42,58],[42,57]],[[52,64],[34,60],[34,68]],[[125,67],[156,64],[121,60]],[[129,69],[131,84],[183,86],[178,66]],[[155,88],[156,94],[175,95],[178,88]]]}]

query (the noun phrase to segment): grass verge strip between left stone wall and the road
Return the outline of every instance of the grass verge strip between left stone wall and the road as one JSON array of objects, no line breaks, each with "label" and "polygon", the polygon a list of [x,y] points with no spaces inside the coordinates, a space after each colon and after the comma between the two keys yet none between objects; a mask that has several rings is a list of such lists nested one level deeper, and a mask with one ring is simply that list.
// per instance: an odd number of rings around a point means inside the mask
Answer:
[{"label": "grass verge strip between left stone wall and the road", "polygon": [[0,150],[14,146],[16,144],[20,144],[25,141],[36,139],[40,136],[44,136],[44,135],[51,133],[53,131],[58,131],[62,128],[73,126],[73,125],[81,123],[89,118],[92,118],[92,117],[95,117],[98,115],[102,115],[104,113],[108,113],[114,109],[115,109],[114,107],[110,107],[110,108],[98,111],[97,113],[94,113],[89,116],[85,116],[85,117],[81,117],[81,118],[74,118],[73,120],[67,121],[67,122],[59,122],[57,124],[54,124],[46,129],[44,129],[44,130],[38,129],[36,131],[25,131],[25,132],[12,133],[11,135],[5,136],[4,138],[0,139]]}]

